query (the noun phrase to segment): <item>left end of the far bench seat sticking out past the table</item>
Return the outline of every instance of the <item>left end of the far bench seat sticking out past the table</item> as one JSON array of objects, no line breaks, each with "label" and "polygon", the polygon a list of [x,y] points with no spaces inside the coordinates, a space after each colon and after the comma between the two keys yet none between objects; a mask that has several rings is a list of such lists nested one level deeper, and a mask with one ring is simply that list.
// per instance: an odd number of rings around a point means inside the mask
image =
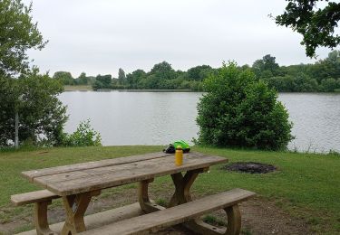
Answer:
[{"label": "left end of the far bench seat sticking out past the table", "polygon": [[34,202],[44,202],[54,198],[59,198],[55,193],[48,190],[40,190],[29,193],[20,193],[11,196],[11,201],[15,206],[30,204]]}]

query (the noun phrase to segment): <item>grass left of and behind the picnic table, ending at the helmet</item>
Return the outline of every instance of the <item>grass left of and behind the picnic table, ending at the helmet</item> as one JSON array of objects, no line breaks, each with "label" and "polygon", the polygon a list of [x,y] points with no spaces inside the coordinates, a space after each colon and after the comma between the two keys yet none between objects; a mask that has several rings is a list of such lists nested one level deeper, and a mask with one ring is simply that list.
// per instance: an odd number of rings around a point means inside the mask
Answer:
[{"label": "grass left of and behind the picnic table, ending at the helmet", "polygon": [[8,204],[12,194],[39,189],[21,176],[23,171],[144,154],[159,150],[160,146],[115,146],[44,148],[33,151],[0,152],[0,206]]}]

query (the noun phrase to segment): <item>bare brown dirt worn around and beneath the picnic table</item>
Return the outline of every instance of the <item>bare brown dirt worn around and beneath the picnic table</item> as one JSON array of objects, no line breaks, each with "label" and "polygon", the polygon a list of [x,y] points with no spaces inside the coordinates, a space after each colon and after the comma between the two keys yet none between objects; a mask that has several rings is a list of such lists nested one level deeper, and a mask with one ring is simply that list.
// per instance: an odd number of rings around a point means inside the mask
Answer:
[{"label": "bare brown dirt worn around and beneath the picnic table", "polygon": [[[156,201],[157,199],[164,199],[169,202],[172,188],[170,185],[164,185],[161,193],[151,190],[151,197]],[[158,190],[158,192],[160,192]],[[195,198],[195,195],[194,195]],[[106,192],[101,197],[92,200],[86,214],[92,214],[99,211],[106,211],[112,208],[120,207],[122,205],[136,202],[136,189],[124,189],[119,192]],[[248,202],[241,203],[240,210],[242,213],[242,234],[312,234],[305,221],[297,221],[289,216],[286,212],[277,208],[274,202],[255,198]],[[226,221],[226,215],[223,211],[217,211],[212,215],[218,218],[219,221]],[[54,205],[49,211],[49,218],[51,223],[64,220],[64,211],[60,205]],[[31,214],[24,213],[15,216],[14,221],[0,224],[0,234],[13,234],[20,227],[32,228],[33,219]],[[181,230],[178,227],[170,228],[168,230],[161,230],[157,234],[193,234],[189,230]]]}]

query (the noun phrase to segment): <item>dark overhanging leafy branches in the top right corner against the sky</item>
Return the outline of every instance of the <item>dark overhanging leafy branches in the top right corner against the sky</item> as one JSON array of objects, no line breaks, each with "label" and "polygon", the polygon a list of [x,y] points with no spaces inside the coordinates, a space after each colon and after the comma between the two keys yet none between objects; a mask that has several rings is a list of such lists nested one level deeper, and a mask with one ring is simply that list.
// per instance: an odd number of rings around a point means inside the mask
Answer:
[{"label": "dark overhanging leafy branches in the top right corner against the sky", "polygon": [[319,0],[287,0],[284,14],[277,15],[278,25],[291,27],[303,35],[302,45],[306,46],[306,55],[316,56],[319,46],[335,48],[340,43],[340,36],[335,34],[340,20],[340,3],[328,2],[324,8],[317,6]]}]

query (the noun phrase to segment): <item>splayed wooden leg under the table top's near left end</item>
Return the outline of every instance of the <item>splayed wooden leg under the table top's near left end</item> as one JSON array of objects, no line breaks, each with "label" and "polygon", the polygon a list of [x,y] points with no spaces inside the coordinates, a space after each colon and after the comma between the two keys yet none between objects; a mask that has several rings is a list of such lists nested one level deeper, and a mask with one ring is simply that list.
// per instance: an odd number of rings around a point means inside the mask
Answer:
[{"label": "splayed wooden leg under the table top's near left end", "polygon": [[63,196],[63,205],[66,211],[66,221],[63,225],[62,235],[72,235],[86,230],[83,216],[92,196],[99,195],[100,191],[80,193]]}]

